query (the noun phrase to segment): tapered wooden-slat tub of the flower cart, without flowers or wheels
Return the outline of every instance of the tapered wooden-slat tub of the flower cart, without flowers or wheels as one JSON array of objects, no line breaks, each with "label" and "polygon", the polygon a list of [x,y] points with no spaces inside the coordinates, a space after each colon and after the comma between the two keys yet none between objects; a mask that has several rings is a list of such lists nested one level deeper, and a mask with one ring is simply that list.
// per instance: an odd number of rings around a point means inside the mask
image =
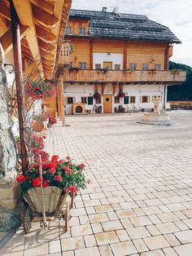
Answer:
[{"label": "tapered wooden-slat tub of the flower cart, without flowers or wheels", "polygon": [[[45,208],[47,214],[55,214],[56,210],[61,210],[66,202],[68,192],[63,192],[63,189],[57,187],[46,187],[43,189]],[[35,213],[42,213],[42,197],[41,188],[35,187],[28,189],[26,195],[24,195],[28,205],[33,209]]]}]

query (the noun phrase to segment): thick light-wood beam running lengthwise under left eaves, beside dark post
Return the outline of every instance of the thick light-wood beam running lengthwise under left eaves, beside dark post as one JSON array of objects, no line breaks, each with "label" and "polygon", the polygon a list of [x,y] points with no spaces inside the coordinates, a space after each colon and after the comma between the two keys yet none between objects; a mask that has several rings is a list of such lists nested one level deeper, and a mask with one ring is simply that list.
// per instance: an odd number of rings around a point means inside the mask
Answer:
[{"label": "thick light-wood beam running lengthwise under left eaves, beside dark post", "polygon": [[30,33],[26,35],[26,39],[28,41],[28,46],[33,54],[33,60],[39,63],[39,70],[41,73],[41,77],[44,77],[42,64],[41,64],[41,55],[39,52],[39,46],[37,42],[37,34],[33,21],[33,11],[31,2],[29,0],[22,0],[22,4],[20,0],[13,0],[17,15],[20,18],[20,23],[24,26],[28,26],[31,28]]}]

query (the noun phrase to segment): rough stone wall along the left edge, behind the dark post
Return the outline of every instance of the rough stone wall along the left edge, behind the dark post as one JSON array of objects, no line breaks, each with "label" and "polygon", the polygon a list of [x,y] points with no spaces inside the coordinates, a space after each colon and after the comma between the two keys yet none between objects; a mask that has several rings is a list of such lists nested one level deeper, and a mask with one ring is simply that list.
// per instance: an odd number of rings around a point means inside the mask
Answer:
[{"label": "rough stone wall along the left edge, behind the dark post", "polygon": [[3,67],[4,53],[0,45],[0,230],[14,228],[19,223],[15,205],[19,189],[15,183],[16,147],[8,113],[7,74]]}]

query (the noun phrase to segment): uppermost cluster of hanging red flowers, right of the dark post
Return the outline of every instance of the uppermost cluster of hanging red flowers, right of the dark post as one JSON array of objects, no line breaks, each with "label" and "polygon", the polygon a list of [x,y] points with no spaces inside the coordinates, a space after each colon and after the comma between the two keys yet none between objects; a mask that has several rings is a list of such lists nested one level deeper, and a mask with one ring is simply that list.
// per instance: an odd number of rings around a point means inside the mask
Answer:
[{"label": "uppermost cluster of hanging red flowers, right of the dark post", "polygon": [[55,95],[55,86],[50,82],[29,82],[25,87],[26,94],[32,99],[46,99]]}]

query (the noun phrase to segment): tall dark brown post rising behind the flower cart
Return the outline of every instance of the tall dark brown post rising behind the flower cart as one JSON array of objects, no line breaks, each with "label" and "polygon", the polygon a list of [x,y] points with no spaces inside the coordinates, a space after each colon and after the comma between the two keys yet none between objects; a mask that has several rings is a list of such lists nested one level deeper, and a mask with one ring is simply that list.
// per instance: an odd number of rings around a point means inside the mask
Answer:
[{"label": "tall dark brown post rising behind the flower cart", "polygon": [[24,119],[23,119],[23,108],[24,108],[24,83],[23,83],[23,68],[22,68],[22,55],[20,45],[20,20],[15,11],[12,0],[10,1],[11,10],[11,32],[13,42],[13,55],[15,65],[15,85],[16,95],[18,104],[18,116],[19,116],[19,127],[20,127],[20,152],[22,170],[26,171],[28,168],[28,157],[27,149],[24,143]]}]

